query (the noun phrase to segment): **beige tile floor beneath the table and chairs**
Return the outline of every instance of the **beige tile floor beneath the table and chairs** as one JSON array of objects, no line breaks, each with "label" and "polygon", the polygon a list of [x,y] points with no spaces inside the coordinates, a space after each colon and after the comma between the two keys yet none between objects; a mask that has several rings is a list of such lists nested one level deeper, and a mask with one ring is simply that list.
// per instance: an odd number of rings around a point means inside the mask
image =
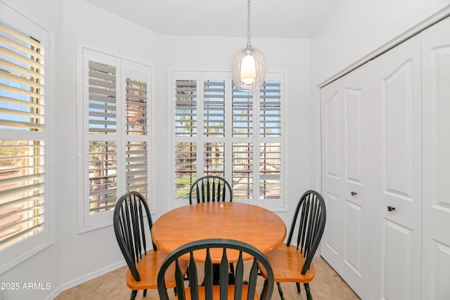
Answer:
[{"label": "beige tile floor beneath the table and chairs", "polygon": [[[316,277],[310,283],[311,294],[314,300],[357,300],[359,297],[350,289],[342,278],[331,268],[325,260],[316,256],[314,258],[314,266],[316,268]],[[108,299],[108,300],[127,300],[131,294],[125,283],[125,273],[127,267],[113,270],[110,273],[101,275],[98,278],[84,282],[81,285],[67,289],[56,296],[55,300],[90,300],[90,299]],[[262,288],[262,278],[259,278],[259,291]],[[302,292],[297,294],[295,283],[283,283],[283,292],[286,300],[305,300],[306,294],[302,287]],[[171,291],[169,295],[172,296]],[[158,292],[156,290],[148,290],[147,296],[143,298],[141,291],[138,292],[136,299],[138,300],[157,300]],[[274,287],[274,294],[271,299],[280,299],[278,289]]]}]

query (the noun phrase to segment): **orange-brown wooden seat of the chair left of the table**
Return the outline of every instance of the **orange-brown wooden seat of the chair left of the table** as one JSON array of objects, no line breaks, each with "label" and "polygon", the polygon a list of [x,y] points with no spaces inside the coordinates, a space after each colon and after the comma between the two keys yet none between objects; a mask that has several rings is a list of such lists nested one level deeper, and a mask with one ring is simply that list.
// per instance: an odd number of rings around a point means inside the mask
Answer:
[{"label": "orange-brown wooden seat of the chair left of the table", "polygon": [[[141,281],[134,280],[130,270],[127,271],[127,286],[132,290],[139,289],[158,289],[158,272],[162,265],[162,261],[165,260],[167,254],[162,251],[149,250],[147,255],[142,256],[139,263],[136,263],[136,268],[141,276]],[[181,272],[186,274],[188,268],[188,261],[183,259],[179,260]],[[174,278],[175,264],[173,263],[169,267],[169,271],[165,275],[167,287],[175,287]],[[172,275],[170,275],[172,274]]]}]

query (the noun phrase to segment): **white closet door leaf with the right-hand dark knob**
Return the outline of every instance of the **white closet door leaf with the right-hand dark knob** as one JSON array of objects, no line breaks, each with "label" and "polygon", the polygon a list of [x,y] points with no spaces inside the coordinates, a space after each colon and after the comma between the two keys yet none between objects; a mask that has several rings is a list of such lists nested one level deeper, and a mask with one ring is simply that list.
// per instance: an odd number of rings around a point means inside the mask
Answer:
[{"label": "white closet door leaf with the right-hand dark knob", "polygon": [[371,61],[371,72],[371,299],[420,299],[420,38]]}]

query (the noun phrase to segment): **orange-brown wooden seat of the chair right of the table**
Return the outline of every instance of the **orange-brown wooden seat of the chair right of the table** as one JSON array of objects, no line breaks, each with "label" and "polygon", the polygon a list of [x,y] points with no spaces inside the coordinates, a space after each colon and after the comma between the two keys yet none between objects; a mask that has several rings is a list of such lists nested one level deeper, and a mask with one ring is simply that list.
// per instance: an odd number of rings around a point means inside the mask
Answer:
[{"label": "orange-brown wooden seat of the chair right of the table", "polygon": [[[286,243],[281,244],[274,251],[266,254],[267,259],[274,270],[275,282],[300,282],[308,283],[314,278],[314,263],[311,262],[307,273],[302,275],[302,267],[305,258],[300,250],[294,245],[287,246]],[[266,271],[259,266],[261,275],[266,278]]]}]

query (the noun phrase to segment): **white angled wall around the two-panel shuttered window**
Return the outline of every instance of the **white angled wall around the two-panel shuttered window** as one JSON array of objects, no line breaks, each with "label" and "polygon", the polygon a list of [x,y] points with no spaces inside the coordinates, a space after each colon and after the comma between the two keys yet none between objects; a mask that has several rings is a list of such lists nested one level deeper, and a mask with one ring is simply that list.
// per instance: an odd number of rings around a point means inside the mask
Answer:
[{"label": "white angled wall around the two-panel shuttered window", "polygon": [[63,83],[58,97],[58,155],[60,177],[56,193],[62,208],[58,228],[60,278],[63,289],[123,265],[113,227],[78,233],[79,188],[77,180],[77,51],[81,45],[153,65],[160,45],[158,34],[106,13],[79,0],[65,0],[63,7]]}]

